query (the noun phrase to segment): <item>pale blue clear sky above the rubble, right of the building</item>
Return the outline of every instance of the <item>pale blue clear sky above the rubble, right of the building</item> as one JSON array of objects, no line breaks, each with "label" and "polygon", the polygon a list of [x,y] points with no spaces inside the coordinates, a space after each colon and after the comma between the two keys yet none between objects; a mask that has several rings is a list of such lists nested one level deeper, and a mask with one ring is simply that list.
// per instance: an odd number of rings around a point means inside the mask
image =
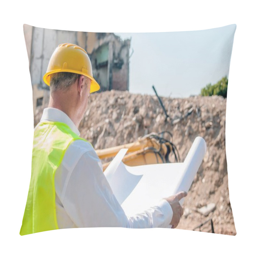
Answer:
[{"label": "pale blue clear sky above the rubble, right of the building", "polygon": [[132,93],[185,98],[229,73],[236,25],[198,31],[115,33],[130,39]]}]

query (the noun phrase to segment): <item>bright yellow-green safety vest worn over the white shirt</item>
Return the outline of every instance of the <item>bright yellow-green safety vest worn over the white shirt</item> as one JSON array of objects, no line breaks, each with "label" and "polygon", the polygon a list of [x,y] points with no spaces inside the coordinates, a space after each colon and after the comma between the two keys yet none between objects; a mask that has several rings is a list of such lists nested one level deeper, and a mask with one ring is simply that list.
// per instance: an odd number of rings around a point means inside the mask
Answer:
[{"label": "bright yellow-green safety vest worn over the white shirt", "polygon": [[[34,131],[32,171],[20,235],[59,229],[54,174],[74,140],[84,140],[60,122],[39,123]],[[84,140],[87,141],[87,140]]]}]

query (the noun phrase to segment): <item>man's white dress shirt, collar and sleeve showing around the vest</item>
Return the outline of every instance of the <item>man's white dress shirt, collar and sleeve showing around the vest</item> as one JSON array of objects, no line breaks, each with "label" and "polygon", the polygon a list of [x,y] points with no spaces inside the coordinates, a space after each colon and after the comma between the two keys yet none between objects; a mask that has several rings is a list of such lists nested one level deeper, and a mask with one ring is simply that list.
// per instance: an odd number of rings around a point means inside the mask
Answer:
[{"label": "man's white dress shirt, collar and sleeve showing around the vest", "polygon": [[[72,120],[59,109],[45,108],[43,121],[65,123],[80,134]],[[106,180],[99,157],[84,140],[69,145],[54,181],[59,228],[164,228],[172,220],[172,207],[164,199],[144,212],[127,216]]]}]

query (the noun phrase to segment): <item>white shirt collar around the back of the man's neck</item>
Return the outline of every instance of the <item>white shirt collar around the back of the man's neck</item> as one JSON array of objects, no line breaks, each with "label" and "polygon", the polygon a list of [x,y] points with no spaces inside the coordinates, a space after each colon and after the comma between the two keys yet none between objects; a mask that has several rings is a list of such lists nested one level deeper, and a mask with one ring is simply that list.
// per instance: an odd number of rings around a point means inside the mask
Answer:
[{"label": "white shirt collar around the back of the man's neck", "polygon": [[75,132],[78,136],[80,135],[80,132],[76,128],[76,125],[73,123],[73,121],[68,117],[66,113],[64,113],[60,109],[44,108],[44,112],[40,122],[44,121],[65,123],[73,132]]}]

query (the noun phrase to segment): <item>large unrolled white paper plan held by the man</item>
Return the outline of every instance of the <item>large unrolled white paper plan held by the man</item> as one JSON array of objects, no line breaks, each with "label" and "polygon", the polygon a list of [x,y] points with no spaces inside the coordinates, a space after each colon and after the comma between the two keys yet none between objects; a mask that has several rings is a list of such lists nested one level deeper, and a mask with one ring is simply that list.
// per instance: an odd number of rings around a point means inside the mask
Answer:
[{"label": "large unrolled white paper plan held by the man", "polygon": [[125,213],[134,215],[158,204],[164,197],[188,192],[203,161],[206,143],[196,137],[183,163],[128,166],[122,162],[126,151],[119,151],[104,174]]}]

